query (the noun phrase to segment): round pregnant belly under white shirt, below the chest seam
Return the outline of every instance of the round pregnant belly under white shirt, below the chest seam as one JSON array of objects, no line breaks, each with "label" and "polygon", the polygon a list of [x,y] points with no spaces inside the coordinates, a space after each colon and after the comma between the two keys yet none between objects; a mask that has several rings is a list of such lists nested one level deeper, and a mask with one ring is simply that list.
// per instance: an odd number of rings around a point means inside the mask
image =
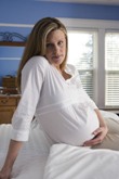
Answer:
[{"label": "round pregnant belly under white shirt, below the chest seam", "polygon": [[54,143],[67,143],[82,145],[87,140],[92,139],[92,132],[98,128],[98,119],[93,111],[87,111],[87,116],[71,114],[72,112],[60,111],[49,113],[40,120],[44,131]]}]

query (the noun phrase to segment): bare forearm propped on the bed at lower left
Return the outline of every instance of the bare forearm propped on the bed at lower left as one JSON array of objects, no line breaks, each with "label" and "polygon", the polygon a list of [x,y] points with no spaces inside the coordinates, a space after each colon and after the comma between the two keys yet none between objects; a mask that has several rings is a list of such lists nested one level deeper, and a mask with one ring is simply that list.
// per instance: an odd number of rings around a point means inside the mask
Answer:
[{"label": "bare forearm propped on the bed at lower left", "polygon": [[0,179],[10,179],[12,167],[23,142],[11,140],[4,165],[0,171]]}]

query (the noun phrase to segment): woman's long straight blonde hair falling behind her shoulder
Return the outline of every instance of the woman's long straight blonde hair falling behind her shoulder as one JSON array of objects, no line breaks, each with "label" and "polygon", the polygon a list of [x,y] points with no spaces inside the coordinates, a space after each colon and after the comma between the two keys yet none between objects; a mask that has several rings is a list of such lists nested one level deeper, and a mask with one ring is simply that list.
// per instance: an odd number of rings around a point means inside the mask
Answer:
[{"label": "woman's long straight blonde hair falling behind her shoulder", "polygon": [[27,61],[35,55],[45,56],[45,48],[47,48],[47,37],[49,33],[55,29],[61,29],[65,34],[66,37],[66,56],[61,64],[61,69],[65,68],[66,60],[67,60],[67,51],[68,51],[68,39],[67,39],[67,30],[62,22],[54,17],[44,17],[36,23],[34,26],[28,40],[26,42],[26,47],[23,53],[23,57],[17,71],[17,87],[21,90],[21,76],[22,69],[27,63]]}]

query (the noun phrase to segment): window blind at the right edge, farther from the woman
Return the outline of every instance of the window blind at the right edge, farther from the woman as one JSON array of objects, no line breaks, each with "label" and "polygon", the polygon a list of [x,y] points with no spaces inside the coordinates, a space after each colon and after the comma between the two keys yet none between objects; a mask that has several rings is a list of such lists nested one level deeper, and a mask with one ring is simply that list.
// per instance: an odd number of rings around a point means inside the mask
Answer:
[{"label": "window blind at the right edge, farther from the woman", "polygon": [[119,106],[119,33],[106,33],[105,73],[105,105]]}]

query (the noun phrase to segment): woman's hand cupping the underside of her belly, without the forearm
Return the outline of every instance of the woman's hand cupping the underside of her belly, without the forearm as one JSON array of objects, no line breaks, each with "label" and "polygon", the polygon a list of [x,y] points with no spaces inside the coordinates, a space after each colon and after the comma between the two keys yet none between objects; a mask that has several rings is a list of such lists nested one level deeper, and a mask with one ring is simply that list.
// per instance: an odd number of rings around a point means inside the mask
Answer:
[{"label": "woman's hand cupping the underside of her belly, without the forearm", "polygon": [[103,126],[103,127],[100,127],[97,128],[93,135],[94,135],[94,138],[89,140],[89,141],[85,141],[83,143],[83,146],[92,146],[92,145],[96,145],[96,144],[100,144],[103,142],[104,138],[106,137],[107,135],[107,131],[108,131],[108,128],[107,126]]}]

